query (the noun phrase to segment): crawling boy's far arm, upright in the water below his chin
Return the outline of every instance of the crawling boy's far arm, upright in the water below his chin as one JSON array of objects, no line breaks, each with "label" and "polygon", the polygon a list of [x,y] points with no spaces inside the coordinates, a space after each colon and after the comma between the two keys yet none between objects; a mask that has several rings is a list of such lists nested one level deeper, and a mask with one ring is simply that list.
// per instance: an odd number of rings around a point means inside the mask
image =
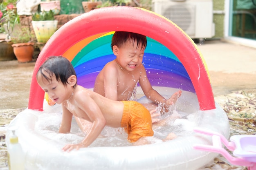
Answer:
[{"label": "crawling boy's far arm, upright in the water below his chin", "polygon": [[59,133],[69,133],[71,129],[71,122],[72,122],[72,113],[70,113],[65,106],[62,105],[62,121],[61,126],[58,130]]}]

